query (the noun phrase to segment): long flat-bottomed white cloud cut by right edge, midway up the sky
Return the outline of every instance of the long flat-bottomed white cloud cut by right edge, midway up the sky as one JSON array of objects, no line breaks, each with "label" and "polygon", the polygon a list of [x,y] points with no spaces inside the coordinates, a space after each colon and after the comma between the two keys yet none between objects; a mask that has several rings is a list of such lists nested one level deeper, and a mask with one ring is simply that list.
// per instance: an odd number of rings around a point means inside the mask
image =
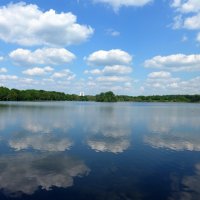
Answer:
[{"label": "long flat-bottomed white cloud cut by right edge, midway up the sky", "polygon": [[200,54],[155,56],[144,62],[147,68],[165,69],[171,71],[199,71]]}]

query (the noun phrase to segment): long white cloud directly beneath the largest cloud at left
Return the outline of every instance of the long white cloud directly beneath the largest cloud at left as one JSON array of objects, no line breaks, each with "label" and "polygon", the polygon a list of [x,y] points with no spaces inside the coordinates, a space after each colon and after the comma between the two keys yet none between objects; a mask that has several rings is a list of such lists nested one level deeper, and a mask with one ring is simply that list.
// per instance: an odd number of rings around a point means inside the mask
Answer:
[{"label": "long white cloud directly beneath the largest cloud at left", "polygon": [[17,49],[9,54],[14,63],[27,65],[59,65],[69,63],[75,59],[75,55],[64,48],[43,48],[33,52],[27,49]]}]

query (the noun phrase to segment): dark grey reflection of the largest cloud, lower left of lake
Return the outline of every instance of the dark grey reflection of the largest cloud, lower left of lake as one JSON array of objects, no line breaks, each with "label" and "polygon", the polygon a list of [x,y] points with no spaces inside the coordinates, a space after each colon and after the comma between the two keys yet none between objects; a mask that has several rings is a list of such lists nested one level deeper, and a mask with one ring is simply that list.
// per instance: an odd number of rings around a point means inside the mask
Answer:
[{"label": "dark grey reflection of the largest cloud, lower left of lake", "polygon": [[[63,154],[16,154],[0,157],[0,188],[8,195],[33,194],[39,187],[67,188],[90,170],[81,160]],[[12,180],[12,181],[11,181]]]}]

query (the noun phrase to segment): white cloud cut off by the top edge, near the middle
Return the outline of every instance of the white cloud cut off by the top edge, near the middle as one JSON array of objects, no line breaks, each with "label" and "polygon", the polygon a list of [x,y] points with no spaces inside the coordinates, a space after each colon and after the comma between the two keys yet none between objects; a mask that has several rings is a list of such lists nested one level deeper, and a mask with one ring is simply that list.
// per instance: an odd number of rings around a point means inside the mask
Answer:
[{"label": "white cloud cut off by the top edge, near the middle", "polygon": [[112,6],[112,8],[115,11],[118,11],[122,6],[141,7],[152,2],[152,0],[93,0],[93,1],[97,3],[108,4]]}]

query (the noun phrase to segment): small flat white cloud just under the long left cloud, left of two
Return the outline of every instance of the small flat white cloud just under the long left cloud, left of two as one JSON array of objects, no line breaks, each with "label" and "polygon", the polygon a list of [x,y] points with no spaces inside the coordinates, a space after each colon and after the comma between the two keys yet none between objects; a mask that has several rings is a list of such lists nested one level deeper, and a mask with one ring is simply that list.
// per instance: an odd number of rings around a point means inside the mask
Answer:
[{"label": "small flat white cloud just under the long left cloud, left of two", "polygon": [[49,66],[44,67],[44,68],[34,67],[32,69],[27,69],[27,70],[23,71],[22,73],[29,75],[29,76],[42,76],[42,75],[52,72],[53,70],[54,69]]}]

